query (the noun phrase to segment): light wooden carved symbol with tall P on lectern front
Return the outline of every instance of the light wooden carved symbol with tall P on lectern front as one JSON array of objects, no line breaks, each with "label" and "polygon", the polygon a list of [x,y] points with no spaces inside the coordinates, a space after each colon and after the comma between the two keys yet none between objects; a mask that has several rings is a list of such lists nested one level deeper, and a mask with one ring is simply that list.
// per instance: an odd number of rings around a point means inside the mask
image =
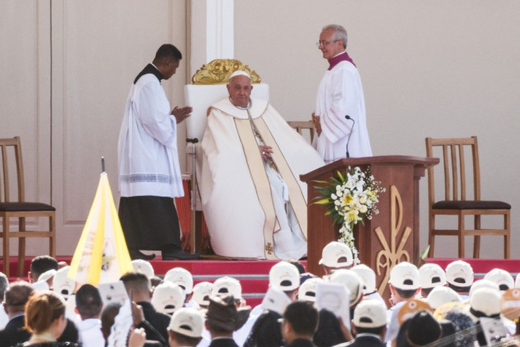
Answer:
[{"label": "light wooden carved symbol with tall P on lectern front", "polygon": [[409,226],[404,229],[399,246],[397,248],[395,247],[395,244],[397,243],[397,234],[401,229],[403,215],[401,196],[395,185],[390,187],[390,199],[390,225],[392,229],[390,234],[390,247],[388,247],[388,242],[384,237],[381,227],[378,226],[375,229],[377,238],[379,239],[379,242],[381,242],[381,246],[383,246],[383,249],[377,252],[377,275],[381,275],[381,272],[383,270],[385,271],[384,278],[379,285],[379,294],[382,294],[386,288],[388,278],[390,277],[390,271],[394,265],[397,264],[402,257],[404,257],[405,261],[410,261],[410,255],[404,250],[404,245],[411,233],[411,228]]}]

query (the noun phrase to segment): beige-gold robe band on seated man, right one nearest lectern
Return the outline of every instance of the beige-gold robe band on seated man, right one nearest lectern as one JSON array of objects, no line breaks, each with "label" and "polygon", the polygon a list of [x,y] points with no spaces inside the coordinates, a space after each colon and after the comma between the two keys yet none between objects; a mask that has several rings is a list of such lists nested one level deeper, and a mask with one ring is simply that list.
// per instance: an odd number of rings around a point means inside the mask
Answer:
[{"label": "beige-gold robe band on seated man, right one nearest lectern", "polygon": [[278,143],[274,139],[271,131],[267,128],[265,121],[262,117],[253,119],[258,132],[262,134],[262,139],[264,139],[266,146],[271,146],[273,148],[273,154],[271,157],[274,160],[274,164],[276,164],[276,168],[278,169],[278,173],[282,176],[283,181],[289,188],[289,201],[292,206],[292,210],[294,211],[294,215],[298,220],[298,224],[301,229],[301,233],[304,234],[305,240],[307,240],[307,203],[305,201],[304,194],[301,192],[300,185],[294,174],[292,173],[289,165],[287,164],[287,160],[283,156],[282,151],[278,147]]}]

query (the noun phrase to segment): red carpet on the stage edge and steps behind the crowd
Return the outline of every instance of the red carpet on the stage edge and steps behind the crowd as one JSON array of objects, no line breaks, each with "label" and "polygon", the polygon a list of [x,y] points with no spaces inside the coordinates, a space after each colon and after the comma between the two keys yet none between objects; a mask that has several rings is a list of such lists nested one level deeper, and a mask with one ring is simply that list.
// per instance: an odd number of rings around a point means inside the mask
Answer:
[{"label": "red carpet on the stage edge and steps behind the crowd", "polygon": [[[58,256],[58,261],[70,263],[71,256]],[[456,259],[426,259],[427,263],[437,263],[441,268],[446,268],[448,263]],[[501,259],[464,259],[473,267],[475,277],[480,278],[486,272],[494,268],[501,268],[511,272],[516,277],[520,272],[520,260],[501,260]],[[0,261],[1,265],[2,261]],[[31,257],[26,259],[25,272],[29,270]],[[164,275],[168,270],[175,267],[182,267],[191,272],[194,282],[214,282],[218,277],[228,275],[239,279],[242,284],[244,298],[255,306],[262,300],[263,294],[267,291],[269,282],[269,270],[276,261],[232,261],[232,260],[198,260],[198,261],[151,261],[155,273],[159,276]],[[306,261],[303,261],[306,266]],[[16,274],[17,259],[10,259],[10,273]],[[17,279],[10,277],[10,281]],[[26,278],[24,278],[26,279]]]}]

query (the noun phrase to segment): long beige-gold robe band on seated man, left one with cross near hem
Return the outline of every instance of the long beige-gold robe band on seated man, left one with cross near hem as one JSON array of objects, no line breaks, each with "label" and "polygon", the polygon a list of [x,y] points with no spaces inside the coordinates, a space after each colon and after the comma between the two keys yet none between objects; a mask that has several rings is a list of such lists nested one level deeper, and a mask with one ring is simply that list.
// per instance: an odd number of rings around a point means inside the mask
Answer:
[{"label": "long beige-gold robe band on seated man, left one with cross near hem", "polygon": [[[258,195],[258,201],[262,210],[265,214],[264,222],[264,254],[265,258],[269,260],[278,259],[274,254],[274,233],[280,230],[278,219],[274,211],[273,197],[271,196],[271,185],[265,172],[264,161],[262,155],[256,143],[255,135],[251,131],[251,123],[249,119],[235,118],[235,125],[237,127],[242,147],[246,155],[246,162],[250,172],[254,172],[251,175],[251,180],[255,185],[256,194]],[[264,189],[260,189],[264,187]],[[267,187],[267,189],[266,189]]]}]

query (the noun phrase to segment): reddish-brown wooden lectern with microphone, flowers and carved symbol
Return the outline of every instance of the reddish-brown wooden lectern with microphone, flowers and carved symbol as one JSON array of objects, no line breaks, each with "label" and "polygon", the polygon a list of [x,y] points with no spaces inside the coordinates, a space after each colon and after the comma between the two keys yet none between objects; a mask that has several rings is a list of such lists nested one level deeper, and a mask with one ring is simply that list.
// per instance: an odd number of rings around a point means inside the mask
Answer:
[{"label": "reddish-brown wooden lectern with microphone, flowers and carved symbol", "polygon": [[301,175],[308,191],[308,246],[307,267],[315,275],[324,275],[318,261],[322,249],[329,242],[338,240],[339,225],[333,225],[331,216],[325,215],[324,206],[313,203],[319,196],[315,189],[320,184],[315,180],[329,182],[345,174],[347,167],[360,167],[363,171],[370,166],[375,180],[381,182],[386,192],[379,194],[379,214],[365,218],[365,224],[354,227],[355,245],[361,263],[376,272],[376,285],[384,298],[389,297],[386,289],[390,270],[400,261],[418,263],[419,258],[419,179],[425,170],[439,163],[439,158],[388,155],[379,157],[348,158],[326,164],[314,171]]}]

